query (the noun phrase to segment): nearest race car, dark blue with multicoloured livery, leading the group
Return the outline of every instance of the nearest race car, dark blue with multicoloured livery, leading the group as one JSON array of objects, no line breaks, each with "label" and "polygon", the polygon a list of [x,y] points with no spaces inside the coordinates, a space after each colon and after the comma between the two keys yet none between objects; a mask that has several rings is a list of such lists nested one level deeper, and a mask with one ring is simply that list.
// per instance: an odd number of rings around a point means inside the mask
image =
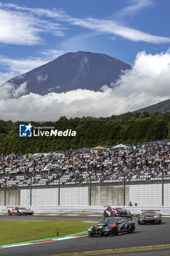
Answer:
[{"label": "nearest race car, dark blue with multicoloured livery, leading the group", "polygon": [[127,218],[107,217],[96,225],[88,227],[88,236],[117,236],[120,233],[133,233],[135,224]]}]

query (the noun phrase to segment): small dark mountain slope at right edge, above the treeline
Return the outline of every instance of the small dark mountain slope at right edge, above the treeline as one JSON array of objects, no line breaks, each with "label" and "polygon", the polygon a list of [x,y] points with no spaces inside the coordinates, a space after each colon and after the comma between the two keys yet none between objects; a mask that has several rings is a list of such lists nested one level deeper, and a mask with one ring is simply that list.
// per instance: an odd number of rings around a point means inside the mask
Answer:
[{"label": "small dark mountain slope at right edge, above the treeline", "polygon": [[163,102],[159,102],[157,104],[151,105],[149,107],[146,108],[141,108],[139,110],[136,110],[134,112],[161,112],[161,113],[165,113],[165,112],[170,112],[170,99],[166,99]]}]

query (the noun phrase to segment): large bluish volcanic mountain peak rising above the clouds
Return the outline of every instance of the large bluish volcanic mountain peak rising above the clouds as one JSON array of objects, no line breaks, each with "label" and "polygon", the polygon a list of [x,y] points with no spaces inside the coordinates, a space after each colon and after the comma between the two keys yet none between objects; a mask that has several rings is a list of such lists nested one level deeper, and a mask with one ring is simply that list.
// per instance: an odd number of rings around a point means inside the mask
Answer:
[{"label": "large bluish volcanic mountain peak rising above the clouds", "polygon": [[15,88],[26,82],[27,93],[42,95],[74,89],[99,91],[101,86],[109,85],[130,68],[130,65],[106,54],[79,51],[66,53],[8,82]]}]

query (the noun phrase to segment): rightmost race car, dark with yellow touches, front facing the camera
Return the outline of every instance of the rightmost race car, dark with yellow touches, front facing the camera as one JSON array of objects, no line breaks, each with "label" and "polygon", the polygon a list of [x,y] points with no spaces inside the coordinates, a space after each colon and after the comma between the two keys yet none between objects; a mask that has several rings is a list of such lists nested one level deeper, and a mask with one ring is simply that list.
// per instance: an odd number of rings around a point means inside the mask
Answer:
[{"label": "rightmost race car, dark with yellow touches, front facing the camera", "polygon": [[147,223],[161,224],[162,215],[154,210],[142,211],[142,213],[138,215],[138,224],[141,225]]}]

